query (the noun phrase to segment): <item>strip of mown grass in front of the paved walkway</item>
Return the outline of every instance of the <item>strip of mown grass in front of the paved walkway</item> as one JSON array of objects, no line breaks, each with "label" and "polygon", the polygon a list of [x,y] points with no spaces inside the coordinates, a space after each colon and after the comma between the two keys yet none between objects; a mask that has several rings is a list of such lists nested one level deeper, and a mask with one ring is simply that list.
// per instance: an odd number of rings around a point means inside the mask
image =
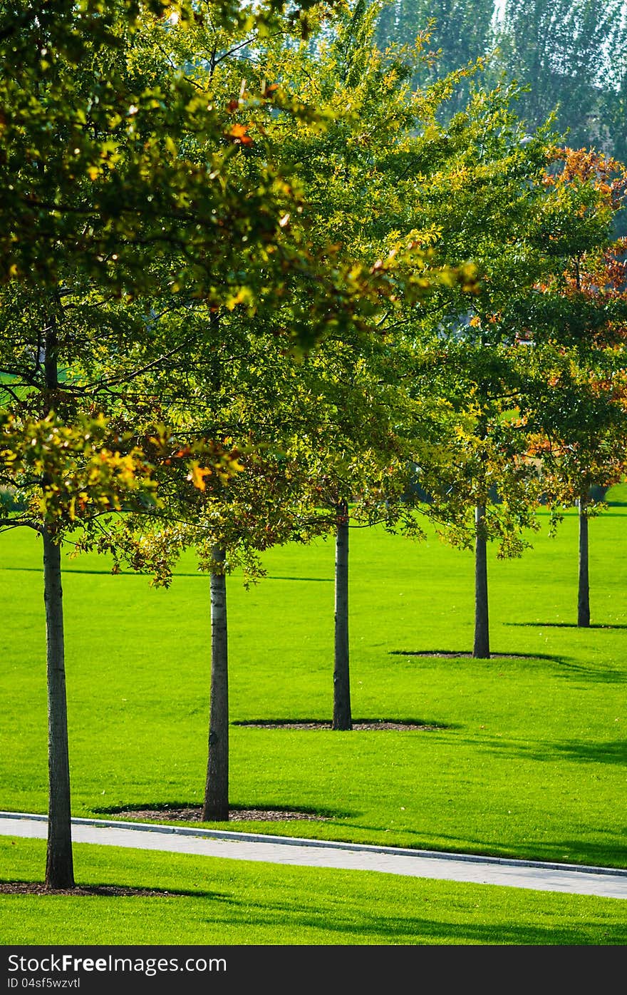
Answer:
[{"label": "strip of mown grass in front of the paved walkway", "polygon": [[[45,842],[0,838],[37,879]],[[81,884],[152,896],[0,896],[10,944],[594,944],[627,941],[624,902],[368,871],[75,846]],[[167,893],[167,894],[165,894]]]}]

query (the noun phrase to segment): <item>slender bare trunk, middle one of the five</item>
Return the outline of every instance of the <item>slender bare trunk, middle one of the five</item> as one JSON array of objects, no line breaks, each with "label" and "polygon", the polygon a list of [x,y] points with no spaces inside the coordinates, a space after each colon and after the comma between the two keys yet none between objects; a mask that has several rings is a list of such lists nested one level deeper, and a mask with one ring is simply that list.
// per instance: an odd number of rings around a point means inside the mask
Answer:
[{"label": "slender bare trunk, middle one of the five", "polygon": [[333,728],[353,728],[349,674],[349,508],[337,507],[335,540],[335,667],[333,670]]}]

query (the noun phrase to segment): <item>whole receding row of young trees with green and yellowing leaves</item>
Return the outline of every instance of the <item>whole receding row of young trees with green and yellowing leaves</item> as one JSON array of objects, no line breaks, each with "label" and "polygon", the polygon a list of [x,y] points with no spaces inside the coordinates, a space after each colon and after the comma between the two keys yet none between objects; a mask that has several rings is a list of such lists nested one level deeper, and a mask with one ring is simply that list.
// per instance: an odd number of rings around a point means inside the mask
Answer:
[{"label": "whole receding row of young trees with green and yellowing leaves", "polygon": [[[530,133],[514,86],[442,114],[387,8],[3,8],[0,529],[41,535],[49,888],[74,885],[62,544],[211,575],[203,818],[229,817],[226,575],[336,538],[333,724],[352,724],[349,525],[428,516],[520,553],[541,501],[624,467],[627,177]],[[306,7],[306,9],[304,9]],[[580,624],[587,622],[581,611]]]}]

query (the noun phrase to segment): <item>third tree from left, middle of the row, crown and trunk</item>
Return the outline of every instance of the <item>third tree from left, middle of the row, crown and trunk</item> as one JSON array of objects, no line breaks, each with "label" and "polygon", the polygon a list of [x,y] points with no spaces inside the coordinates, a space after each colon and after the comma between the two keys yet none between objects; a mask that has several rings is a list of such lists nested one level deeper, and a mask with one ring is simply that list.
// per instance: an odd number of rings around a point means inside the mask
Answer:
[{"label": "third tree from left, middle of the row, crown and trunk", "polygon": [[[365,329],[344,330],[341,339],[324,336],[301,367],[327,407],[325,414],[321,405],[323,445],[314,442],[304,459],[312,467],[318,520],[328,521],[335,538],[332,724],[344,730],[352,727],[350,528],[376,521],[392,527],[398,521],[419,532],[401,500],[408,452],[395,424],[406,404],[406,369],[393,329],[407,306],[413,302],[419,309],[440,283],[457,284],[464,293],[474,286],[467,257],[455,263],[451,257],[446,267],[432,264],[433,226],[418,227],[413,211],[422,173],[441,155],[429,126],[452,82],[412,94],[412,74],[426,60],[424,39],[383,54],[374,41],[380,10],[365,2],[338,4],[333,20],[296,51],[270,52],[276,60],[272,77],[284,80],[299,100],[319,107],[329,121],[323,131],[297,118],[268,129],[280,141],[281,154],[300,164],[314,244],[331,242],[375,270],[392,251],[400,264],[395,276],[404,288],[402,295],[380,298]],[[407,256],[405,247],[417,249],[417,256]]]}]

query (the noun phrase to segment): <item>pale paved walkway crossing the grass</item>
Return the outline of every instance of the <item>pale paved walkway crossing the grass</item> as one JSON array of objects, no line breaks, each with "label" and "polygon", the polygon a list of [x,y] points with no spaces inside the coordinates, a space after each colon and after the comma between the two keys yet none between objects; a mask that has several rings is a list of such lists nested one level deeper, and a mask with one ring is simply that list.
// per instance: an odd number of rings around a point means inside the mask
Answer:
[{"label": "pale paved walkway crossing the grass", "polygon": [[[413,878],[439,878],[474,882],[477,885],[507,885],[510,888],[529,888],[542,892],[627,898],[627,869],[543,864],[537,861],[329,843],[323,840],[105,819],[73,819],[72,824],[76,843],[165,850],[270,864],[381,871],[384,874],[408,875]],[[48,835],[47,817],[0,812],[0,835],[45,839]]]}]

